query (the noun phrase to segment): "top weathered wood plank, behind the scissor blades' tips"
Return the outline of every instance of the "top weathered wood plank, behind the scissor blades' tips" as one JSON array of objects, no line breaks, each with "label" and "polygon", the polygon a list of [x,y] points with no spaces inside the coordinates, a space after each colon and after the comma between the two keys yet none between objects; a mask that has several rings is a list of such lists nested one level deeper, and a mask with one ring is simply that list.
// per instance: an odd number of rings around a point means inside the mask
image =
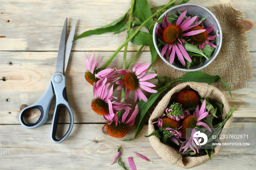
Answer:
[{"label": "top weathered wood plank, behind the scissor blades' tips", "polygon": [[[149,0],[150,7],[163,5],[168,1]],[[221,0],[198,1],[191,0],[204,6],[230,3],[239,11],[244,11],[243,17],[252,20],[256,24],[253,7],[256,1],[246,0]],[[64,18],[68,17],[71,26],[73,20],[78,19],[76,35],[84,31],[105,26],[120,18],[129,8],[130,0],[124,1],[68,1],[57,0],[54,2],[41,1],[5,1],[1,3],[0,11],[0,51],[57,51]],[[29,5],[27,5],[29,4]],[[111,6],[111,8],[110,8]],[[39,8],[40,7],[40,8]],[[68,10],[66,10],[68,8]],[[110,10],[111,9],[111,10]],[[63,13],[63,10],[65,12]],[[96,11],[96,12],[95,12]],[[93,15],[91,15],[93,13]],[[43,16],[43,17],[42,17]],[[9,21],[9,22],[8,22]],[[256,51],[256,27],[247,32],[249,51]],[[75,51],[115,51],[124,41],[125,32],[118,35],[106,33],[92,35],[78,39],[74,43]],[[130,45],[129,51],[138,50],[139,47]],[[144,50],[149,51],[148,48]]]}]

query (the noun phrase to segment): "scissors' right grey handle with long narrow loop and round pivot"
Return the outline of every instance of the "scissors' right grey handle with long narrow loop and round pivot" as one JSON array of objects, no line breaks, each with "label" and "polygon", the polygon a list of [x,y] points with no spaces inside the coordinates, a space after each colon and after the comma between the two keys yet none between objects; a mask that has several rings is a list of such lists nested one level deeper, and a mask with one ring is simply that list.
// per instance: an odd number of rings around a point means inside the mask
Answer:
[{"label": "scissors' right grey handle with long narrow loop and round pivot", "polygon": [[[61,143],[71,133],[74,126],[74,115],[68,104],[67,92],[66,92],[66,78],[63,73],[57,72],[52,76],[52,85],[56,96],[56,106],[53,113],[52,128],[51,128],[51,139],[55,143]],[[56,139],[57,126],[60,116],[60,108],[65,107],[68,110],[70,117],[70,124],[68,131],[61,139]]]}]

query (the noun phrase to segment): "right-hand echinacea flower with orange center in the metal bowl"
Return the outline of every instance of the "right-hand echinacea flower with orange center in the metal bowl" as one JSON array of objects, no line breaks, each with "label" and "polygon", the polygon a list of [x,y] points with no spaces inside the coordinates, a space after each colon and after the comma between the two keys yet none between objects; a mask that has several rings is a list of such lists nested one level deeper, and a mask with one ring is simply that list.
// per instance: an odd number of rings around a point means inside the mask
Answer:
[{"label": "right-hand echinacea flower with orange center in the metal bowl", "polygon": [[[195,23],[197,23],[197,20],[195,21]],[[204,25],[202,23],[201,23],[202,26],[195,26],[195,27],[189,29],[189,31],[204,30]],[[195,46],[198,45],[200,50],[202,50],[204,48],[204,45],[206,45],[206,44],[210,45],[211,47],[216,48],[217,47],[216,45],[209,42],[209,40],[214,40],[217,36],[217,35],[209,36],[210,32],[213,29],[214,29],[214,25],[205,28],[206,31],[201,32],[200,34],[189,36],[190,41],[192,42],[193,45],[195,45]]]}]

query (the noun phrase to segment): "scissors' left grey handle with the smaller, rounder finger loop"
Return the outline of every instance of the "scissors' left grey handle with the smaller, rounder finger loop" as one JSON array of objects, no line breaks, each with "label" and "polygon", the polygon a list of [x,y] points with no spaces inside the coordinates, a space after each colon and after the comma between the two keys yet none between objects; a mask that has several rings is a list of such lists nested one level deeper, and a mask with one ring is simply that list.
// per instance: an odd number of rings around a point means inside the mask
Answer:
[{"label": "scissors' left grey handle with the smaller, rounder finger loop", "polygon": [[[52,83],[50,82],[44,95],[36,103],[22,109],[19,115],[20,124],[23,127],[28,129],[37,128],[45,124],[48,119],[48,111],[49,111],[50,103],[52,101],[53,96],[54,96],[54,93],[52,89]],[[23,117],[27,111],[31,111],[32,109],[39,109],[39,111],[41,112],[41,115],[37,120],[37,122],[35,122],[34,124],[27,124],[25,123]]]}]

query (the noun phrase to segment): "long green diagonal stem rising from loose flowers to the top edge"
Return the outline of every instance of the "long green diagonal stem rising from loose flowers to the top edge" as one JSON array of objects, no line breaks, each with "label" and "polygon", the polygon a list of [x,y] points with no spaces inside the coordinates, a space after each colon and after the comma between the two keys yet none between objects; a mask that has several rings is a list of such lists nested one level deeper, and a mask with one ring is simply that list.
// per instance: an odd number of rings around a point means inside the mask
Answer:
[{"label": "long green diagonal stem rising from loose flowers to the top edge", "polygon": [[161,8],[159,11],[155,12],[153,15],[151,15],[148,19],[146,19],[138,28],[133,32],[133,34],[109,57],[109,59],[103,64],[101,69],[105,69],[109,63],[112,61],[114,57],[116,57],[117,53],[139,32],[139,30],[154,16],[156,16],[158,13],[163,11],[165,8],[167,8],[170,4],[174,3],[176,0],[171,0],[167,5],[165,5],[163,8]]}]

